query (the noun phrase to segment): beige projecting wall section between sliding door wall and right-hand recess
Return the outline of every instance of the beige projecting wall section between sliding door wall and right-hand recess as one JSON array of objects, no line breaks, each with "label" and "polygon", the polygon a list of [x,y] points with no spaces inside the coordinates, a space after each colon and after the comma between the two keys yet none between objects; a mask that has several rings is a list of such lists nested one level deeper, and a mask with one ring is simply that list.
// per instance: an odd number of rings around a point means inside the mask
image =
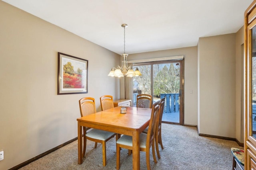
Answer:
[{"label": "beige projecting wall section between sliding door wall and right-hand recess", "polygon": [[199,133],[236,137],[236,34],[200,38]]}]

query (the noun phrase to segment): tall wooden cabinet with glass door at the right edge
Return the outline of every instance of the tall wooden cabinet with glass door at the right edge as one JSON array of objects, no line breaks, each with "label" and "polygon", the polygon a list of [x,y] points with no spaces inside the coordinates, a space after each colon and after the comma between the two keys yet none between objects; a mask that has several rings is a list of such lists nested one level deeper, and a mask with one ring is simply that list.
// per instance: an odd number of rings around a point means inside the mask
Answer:
[{"label": "tall wooden cabinet with glass door at the right edge", "polygon": [[256,0],[244,13],[244,169],[256,170]]}]

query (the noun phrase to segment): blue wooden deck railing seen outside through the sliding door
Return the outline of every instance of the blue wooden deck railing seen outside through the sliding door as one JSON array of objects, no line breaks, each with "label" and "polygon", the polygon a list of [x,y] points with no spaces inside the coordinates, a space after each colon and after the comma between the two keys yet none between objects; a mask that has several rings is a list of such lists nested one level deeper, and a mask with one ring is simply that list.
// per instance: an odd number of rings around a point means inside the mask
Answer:
[{"label": "blue wooden deck railing seen outside through the sliding door", "polygon": [[[133,105],[136,106],[138,93],[134,93],[132,97]],[[178,93],[160,94],[160,98],[165,99],[164,113],[173,113],[180,111],[180,101]]]}]

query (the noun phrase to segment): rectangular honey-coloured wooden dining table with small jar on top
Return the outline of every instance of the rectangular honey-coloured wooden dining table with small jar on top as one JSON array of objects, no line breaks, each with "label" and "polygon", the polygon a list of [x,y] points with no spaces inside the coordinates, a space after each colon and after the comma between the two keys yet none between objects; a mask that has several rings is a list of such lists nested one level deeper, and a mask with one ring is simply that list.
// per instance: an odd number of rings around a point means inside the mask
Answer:
[{"label": "rectangular honey-coloured wooden dining table with small jar on top", "polygon": [[133,170],[140,169],[140,133],[148,127],[152,109],[137,107],[126,108],[126,113],[120,113],[121,107],[114,107],[77,119],[78,164],[83,163],[82,127],[85,126],[132,136]]}]

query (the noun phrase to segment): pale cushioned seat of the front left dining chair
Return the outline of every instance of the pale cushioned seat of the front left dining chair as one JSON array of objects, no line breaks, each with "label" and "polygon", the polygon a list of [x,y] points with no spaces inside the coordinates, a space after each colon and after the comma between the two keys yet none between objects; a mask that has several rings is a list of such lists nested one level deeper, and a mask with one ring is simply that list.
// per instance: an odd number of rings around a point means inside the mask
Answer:
[{"label": "pale cushioned seat of the front left dining chair", "polygon": [[86,133],[87,137],[93,138],[93,139],[98,139],[101,141],[106,141],[108,138],[110,138],[112,135],[115,133],[113,132],[108,132],[108,131],[102,131],[99,129],[92,129]]}]

